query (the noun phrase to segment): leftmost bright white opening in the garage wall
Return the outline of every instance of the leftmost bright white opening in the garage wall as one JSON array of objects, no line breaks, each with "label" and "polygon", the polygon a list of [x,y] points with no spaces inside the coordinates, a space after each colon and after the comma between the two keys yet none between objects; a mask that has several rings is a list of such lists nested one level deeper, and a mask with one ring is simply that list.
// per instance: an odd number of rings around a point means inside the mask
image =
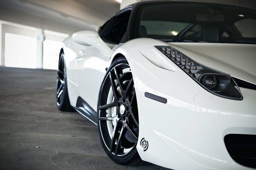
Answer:
[{"label": "leftmost bright white opening in the garage wall", "polygon": [[36,39],[33,37],[6,33],[5,65],[7,67],[36,68]]}]

